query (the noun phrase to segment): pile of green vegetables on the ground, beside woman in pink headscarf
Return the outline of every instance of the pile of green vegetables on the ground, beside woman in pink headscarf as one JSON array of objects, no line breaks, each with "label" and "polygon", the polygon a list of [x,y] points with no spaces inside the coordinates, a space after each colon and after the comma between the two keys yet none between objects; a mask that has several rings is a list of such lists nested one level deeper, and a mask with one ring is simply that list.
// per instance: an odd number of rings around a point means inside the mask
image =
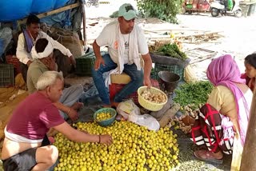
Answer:
[{"label": "pile of green vegetables on the ground, beside woman in pink headscarf", "polygon": [[200,104],[206,103],[212,89],[213,85],[209,81],[186,83],[174,90],[174,101],[182,107],[194,104],[194,107],[198,108]]}]

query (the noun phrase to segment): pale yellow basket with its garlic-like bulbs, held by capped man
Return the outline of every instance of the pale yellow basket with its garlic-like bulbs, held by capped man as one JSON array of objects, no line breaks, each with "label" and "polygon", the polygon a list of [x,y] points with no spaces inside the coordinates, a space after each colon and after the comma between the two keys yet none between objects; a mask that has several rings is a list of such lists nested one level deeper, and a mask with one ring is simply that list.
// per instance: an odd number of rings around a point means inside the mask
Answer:
[{"label": "pale yellow basket with its garlic-like bulbs, held by capped man", "polygon": [[162,109],[167,100],[166,93],[163,93],[160,89],[154,87],[148,89],[147,86],[138,88],[138,103],[145,109],[158,111]]}]

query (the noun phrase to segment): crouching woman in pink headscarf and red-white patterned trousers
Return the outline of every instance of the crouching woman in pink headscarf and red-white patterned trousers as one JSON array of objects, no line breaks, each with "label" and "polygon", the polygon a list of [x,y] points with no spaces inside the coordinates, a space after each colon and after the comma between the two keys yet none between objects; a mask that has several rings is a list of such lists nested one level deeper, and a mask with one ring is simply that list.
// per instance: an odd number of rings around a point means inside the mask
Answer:
[{"label": "crouching woman in pink headscarf and red-white patterned trousers", "polygon": [[194,156],[221,164],[223,153],[232,154],[235,133],[242,146],[250,116],[253,93],[240,78],[234,59],[226,54],[210,62],[207,78],[214,85],[192,127],[192,140],[202,149]]}]

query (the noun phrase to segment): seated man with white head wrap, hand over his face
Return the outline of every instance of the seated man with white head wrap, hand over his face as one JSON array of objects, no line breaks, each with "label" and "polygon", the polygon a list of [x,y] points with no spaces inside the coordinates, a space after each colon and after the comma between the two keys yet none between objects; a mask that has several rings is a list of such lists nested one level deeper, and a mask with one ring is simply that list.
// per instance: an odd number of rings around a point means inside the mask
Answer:
[{"label": "seated man with white head wrap, hand over his face", "polygon": [[[46,71],[56,70],[56,64],[53,58],[54,44],[46,38],[40,38],[31,50],[34,61],[30,64],[27,71],[26,84],[29,93],[36,91],[38,78]],[[83,93],[82,85],[73,85],[63,89],[62,97],[54,105],[60,110],[62,117],[66,120],[68,117],[72,121],[78,119],[77,109],[82,106],[78,103],[78,98]]]}]

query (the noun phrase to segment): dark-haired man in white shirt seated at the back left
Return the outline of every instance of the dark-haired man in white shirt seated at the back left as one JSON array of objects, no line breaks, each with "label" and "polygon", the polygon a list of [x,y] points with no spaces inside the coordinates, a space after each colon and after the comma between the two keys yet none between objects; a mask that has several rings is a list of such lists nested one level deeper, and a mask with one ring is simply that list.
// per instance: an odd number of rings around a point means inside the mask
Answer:
[{"label": "dark-haired man in white shirt seated at the back left", "polygon": [[[70,58],[70,63],[72,63],[75,66],[75,60],[72,54],[70,53],[70,50],[66,49],[66,47],[62,46],[62,44],[60,44],[57,41],[54,41],[53,38],[50,38],[46,33],[39,30],[40,19],[36,15],[29,15],[29,17],[26,20],[26,26],[26,30],[24,30],[23,33],[19,34],[18,36],[18,46],[16,52],[16,56],[20,61],[22,77],[25,82],[26,72],[31,62],[33,61],[30,52],[35,42],[39,38],[46,38],[48,41],[50,41],[54,45],[54,49],[60,50],[62,54],[68,56]],[[62,70],[63,67],[65,66],[58,65],[59,70]]]}]

